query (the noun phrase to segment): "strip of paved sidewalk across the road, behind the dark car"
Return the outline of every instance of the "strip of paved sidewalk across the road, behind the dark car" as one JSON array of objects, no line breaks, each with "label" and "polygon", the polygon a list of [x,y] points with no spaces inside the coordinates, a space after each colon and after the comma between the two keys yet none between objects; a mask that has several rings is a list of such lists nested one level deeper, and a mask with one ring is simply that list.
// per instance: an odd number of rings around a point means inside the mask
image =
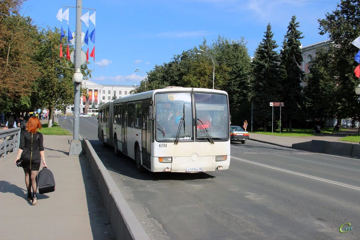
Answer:
[{"label": "strip of paved sidewalk across the road, behind the dark car", "polygon": [[[249,140],[291,148],[291,146],[295,143],[307,142],[311,140],[337,142],[341,138],[342,137],[332,136],[332,135],[318,135],[318,136],[308,136],[308,137],[280,137],[280,136],[256,134],[250,132]],[[344,142],[344,141],[339,141],[339,142]]]}]

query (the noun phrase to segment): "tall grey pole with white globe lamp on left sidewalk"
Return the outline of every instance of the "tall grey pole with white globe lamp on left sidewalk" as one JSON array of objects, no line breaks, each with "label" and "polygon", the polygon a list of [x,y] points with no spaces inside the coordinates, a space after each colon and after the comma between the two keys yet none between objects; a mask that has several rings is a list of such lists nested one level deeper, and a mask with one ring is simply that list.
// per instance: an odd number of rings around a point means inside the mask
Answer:
[{"label": "tall grey pole with white globe lamp on left sidewalk", "polygon": [[75,73],[72,77],[74,82],[74,131],[73,140],[71,141],[69,155],[79,155],[82,148],[79,140],[79,129],[80,129],[80,83],[82,81],[81,69],[81,10],[82,0],[76,0],[76,38],[75,38]]}]

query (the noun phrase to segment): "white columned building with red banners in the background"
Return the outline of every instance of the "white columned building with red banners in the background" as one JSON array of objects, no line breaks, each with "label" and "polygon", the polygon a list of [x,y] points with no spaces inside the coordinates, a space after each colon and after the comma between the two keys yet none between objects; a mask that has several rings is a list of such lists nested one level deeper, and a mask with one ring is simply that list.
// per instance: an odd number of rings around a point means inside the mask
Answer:
[{"label": "white columned building with red banners in the background", "polygon": [[[81,87],[86,88],[89,94],[89,105],[93,103],[95,104],[96,108],[100,103],[107,103],[110,101],[113,96],[115,95],[116,98],[121,98],[123,96],[127,96],[130,94],[131,90],[135,89],[135,86],[127,86],[127,85],[110,85],[110,84],[103,84],[100,85],[95,82],[91,82],[89,80],[84,80],[81,83]],[[86,98],[82,96],[80,99],[80,113],[85,112],[85,104]],[[74,112],[74,105],[68,106],[66,108],[67,113]]]}]

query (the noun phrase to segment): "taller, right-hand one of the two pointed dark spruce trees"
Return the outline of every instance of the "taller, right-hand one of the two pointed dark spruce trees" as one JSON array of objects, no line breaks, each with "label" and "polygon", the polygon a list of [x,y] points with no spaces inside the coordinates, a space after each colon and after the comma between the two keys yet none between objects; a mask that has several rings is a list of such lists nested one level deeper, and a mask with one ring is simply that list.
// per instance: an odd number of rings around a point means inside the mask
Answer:
[{"label": "taller, right-hand one of the two pointed dark spruce trees", "polygon": [[302,99],[301,81],[304,72],[299,68],[302,63],[302,51],[300,49],[300,39],[302,32],[297,30],[299,22],[296,22],[296,16],[292,16],[288,26],[288,31],[284,37],[283,49],[281,54],[281,74],[283,86],[283,101],[285,104],[285,120],[289,123],[289,131],[292,131],[293,119],[298,119],[303,112],[304,105]]}]

